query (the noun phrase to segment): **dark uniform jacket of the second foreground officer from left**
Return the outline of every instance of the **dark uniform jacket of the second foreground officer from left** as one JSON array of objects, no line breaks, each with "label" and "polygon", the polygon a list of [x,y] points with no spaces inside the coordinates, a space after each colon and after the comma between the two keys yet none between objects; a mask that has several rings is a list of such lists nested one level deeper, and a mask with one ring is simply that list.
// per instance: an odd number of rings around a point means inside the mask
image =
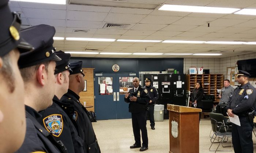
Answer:
[{"label": "dark uniform jacket of the second foreground officer from left", "polygon": [[[26,106],[26,136],[22,146],[16,153],[60,153],[47,137],[50,133],[36,120],[41,115],[33,108]],[[15,144],[14,144],[15,145]]]}]

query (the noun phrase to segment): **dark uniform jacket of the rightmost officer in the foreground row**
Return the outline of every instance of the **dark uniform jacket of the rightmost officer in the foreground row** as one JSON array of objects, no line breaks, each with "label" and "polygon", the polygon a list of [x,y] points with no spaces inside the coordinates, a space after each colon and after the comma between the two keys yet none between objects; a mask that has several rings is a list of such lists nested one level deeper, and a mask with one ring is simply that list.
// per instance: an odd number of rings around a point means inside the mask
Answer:
[{"label": "dark uniform jacket of the rightmost officer in the foreground row", "polygon": [[90,149],[95,148],[95,152],[100,153],[93,125],[91,124],[86,108],[80,103],[79,98],[79,95],[68,89],[68,92],[63,95],[61,101],[65,101],[65,99],[72,99],[74,101],[74,115],[72,119],[76,122],[77,130],[83,132],[79,133],[79,136],[83,138],[84,146],[87,146],[88,152],[90,152]]}]

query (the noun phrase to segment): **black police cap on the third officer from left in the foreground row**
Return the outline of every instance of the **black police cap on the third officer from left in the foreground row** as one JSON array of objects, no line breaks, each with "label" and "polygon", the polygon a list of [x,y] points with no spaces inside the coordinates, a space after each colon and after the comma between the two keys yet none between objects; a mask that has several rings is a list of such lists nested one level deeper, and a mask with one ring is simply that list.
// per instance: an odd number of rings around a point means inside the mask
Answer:
[{"label": "black police cap on the third officer from left in the foreground row", "polygon": [[63,51],[57,51],[55,52],[55,54],[61,58],[60,61],[56,61],[56,67],[54,70],[54,74],[69,70],[69,72],[71,73],[72,70],[70,69],[70,64],[68,63],[69,59],[70,59],[70,54],[69,53],[65,53]]}]

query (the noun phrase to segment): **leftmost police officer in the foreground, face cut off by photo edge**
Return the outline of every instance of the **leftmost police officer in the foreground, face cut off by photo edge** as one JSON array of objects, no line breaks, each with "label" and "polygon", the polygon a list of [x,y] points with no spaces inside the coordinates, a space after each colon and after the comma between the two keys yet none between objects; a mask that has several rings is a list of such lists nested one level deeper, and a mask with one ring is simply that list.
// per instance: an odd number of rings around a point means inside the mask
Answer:
[{"label": "leftmost police officer in the foreground, face cut off by photo edge", "polygon": [[8,1],[0,1],[0,152],[4,153],[18,150],[25,138],[24,83],[17,62],[20,54],[33,49],[20,36],[21,20],[10,11]]}]

